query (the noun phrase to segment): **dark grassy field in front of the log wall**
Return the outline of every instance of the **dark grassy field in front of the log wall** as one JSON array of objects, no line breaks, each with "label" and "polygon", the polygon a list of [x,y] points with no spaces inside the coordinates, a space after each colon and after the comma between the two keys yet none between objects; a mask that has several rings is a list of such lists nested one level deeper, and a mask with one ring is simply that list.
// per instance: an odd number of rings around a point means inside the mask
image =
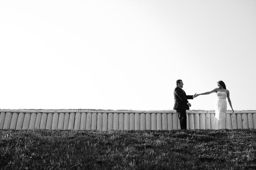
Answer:
[{"label": "dark grassy field in front of the log wall", "polygon": [[1,130],[1,169],[256,169],[256,129]]}]

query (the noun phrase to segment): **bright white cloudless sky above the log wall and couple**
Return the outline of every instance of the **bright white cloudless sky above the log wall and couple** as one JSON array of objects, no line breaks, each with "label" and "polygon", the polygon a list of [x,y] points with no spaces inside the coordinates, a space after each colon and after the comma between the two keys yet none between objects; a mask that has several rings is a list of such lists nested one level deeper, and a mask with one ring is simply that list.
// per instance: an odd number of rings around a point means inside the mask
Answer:
[{"label": "bright white cloudless sky above the log wall and couple", "polygon": [[0,109],[173,110],[182,79],[256,110],[255,30],[255,0],[1,1]]}]

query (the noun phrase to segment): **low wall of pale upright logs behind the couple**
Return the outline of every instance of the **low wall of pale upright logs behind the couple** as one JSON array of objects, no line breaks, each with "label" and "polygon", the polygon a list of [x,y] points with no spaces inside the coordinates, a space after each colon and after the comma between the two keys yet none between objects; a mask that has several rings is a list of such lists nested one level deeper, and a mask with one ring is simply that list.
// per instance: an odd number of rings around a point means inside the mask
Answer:
[{"label": "low wall of pale upright logs behind the couple", "polygon": [[[187,129],[212,129],[214,111],[187,111]],[[256,129],[256,111],[227,112],[227,129]],[[176,111],[0,110],[0,129],[173,130]]]}]

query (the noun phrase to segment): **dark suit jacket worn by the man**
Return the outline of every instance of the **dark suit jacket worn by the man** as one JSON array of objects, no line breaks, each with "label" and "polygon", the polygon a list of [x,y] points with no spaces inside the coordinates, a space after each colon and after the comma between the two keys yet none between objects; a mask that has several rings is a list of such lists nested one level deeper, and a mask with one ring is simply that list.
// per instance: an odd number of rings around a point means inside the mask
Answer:
[{"label": "dark suit jacket worn by the man", "polygon": [[186,95],[185,91],[180,87],[175,87],[173,90],[174,95],[174,107],[173,109],[184,109],[189,110],[189,106],[187,105],[187,99],[193,99],[193,95]]}]

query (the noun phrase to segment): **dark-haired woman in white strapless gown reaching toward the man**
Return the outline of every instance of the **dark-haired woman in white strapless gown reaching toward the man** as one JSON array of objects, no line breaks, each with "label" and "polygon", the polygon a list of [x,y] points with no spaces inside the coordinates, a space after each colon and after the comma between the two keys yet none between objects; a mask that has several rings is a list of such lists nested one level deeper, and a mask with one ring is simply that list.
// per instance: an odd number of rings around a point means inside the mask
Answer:
[{"label": "dark-haired woman in white strapless gown reaching toward the man", "polygon": [[197,94],[206,95],[211,93],[217,93],[217,100],[215,103],[215,118],[213,121],[213,129],[225,129],[226,128],[226,117],[227,117],[227,101],[232,109],[232,113],[234,112],[233,107],[231,105],[231,100],[229,98],[229,91],[226,89],[226,85],[223,81],[218,81],[218,88],[213,89],[212,91]]}]

